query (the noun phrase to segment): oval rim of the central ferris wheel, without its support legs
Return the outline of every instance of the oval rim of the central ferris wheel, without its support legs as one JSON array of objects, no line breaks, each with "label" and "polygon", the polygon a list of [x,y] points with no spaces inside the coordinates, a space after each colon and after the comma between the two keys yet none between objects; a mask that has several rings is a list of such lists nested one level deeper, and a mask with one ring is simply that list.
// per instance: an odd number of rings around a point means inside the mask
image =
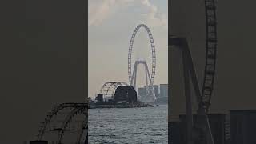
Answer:
[{"label": "oval rim of the central ferris wheel, without its support legs", "polygon": [[129,82],[130,85],[133,84],[132,82],[132,73],[131,73],[131,55],[132,55],[132,50],[133,50],[133,46],[134,46],[134,39],[136,37],[136,34],[138,32],[138,30],[144,27],[149,35],[150,38],[150,45],[151,45],[151,50],[152,50],[152,71],[151,71],[151,78],[150,78],[150,85],[153,85],[154,83],[154,75],[155,75],[155,70],[156,70],[156,54],[155,54],[155,46],[154,46],[154,38],[153,35],[149,29],[148,26],[146,26],[145,24],[140,24],[138,25],[135,30],[134,33],[132,34],[131,38],[130,38],[130,45],[129,45],[129,50],[128,50],[128,77],[129,77]]}]

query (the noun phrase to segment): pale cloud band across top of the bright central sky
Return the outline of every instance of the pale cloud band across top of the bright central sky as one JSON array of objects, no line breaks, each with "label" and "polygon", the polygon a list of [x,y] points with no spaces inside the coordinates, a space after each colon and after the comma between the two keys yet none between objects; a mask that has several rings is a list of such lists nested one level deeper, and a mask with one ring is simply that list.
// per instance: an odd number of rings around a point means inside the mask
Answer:
[{"label": "pale cloud band across top of the bright central sky", "polygon": [[130,5],[141,7],[146,13],[141,14],[142,19],[150,26],[164,26],[167,28],[167,15],[159,12],[149,0],[90,0],[89,1],[89,26],[99,26],[107,19],[118,14],[119,10]]}]

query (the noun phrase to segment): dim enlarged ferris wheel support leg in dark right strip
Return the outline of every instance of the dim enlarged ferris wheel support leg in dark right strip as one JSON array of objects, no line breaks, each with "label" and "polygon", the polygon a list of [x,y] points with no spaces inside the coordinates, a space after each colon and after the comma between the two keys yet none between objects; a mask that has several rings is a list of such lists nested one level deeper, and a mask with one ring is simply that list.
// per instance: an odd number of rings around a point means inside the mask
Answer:
[{"label": "dim enlarged ferris wheel support leg in dark right strip", "polygon": [[[182,49],[186,96],[187,143],[190,144],[194,142],[193,144],[214,144],[214,138],[211,134],[210,123],[207,117],[207,113],[206,110],[204,110],[201,102],[201,93],[198,86],[198,78],[194,70],[194,63],[190,54],[186,38],[170,37],[169,40],[170,45],[178,46],[178,48]],[[190,80],[194,86],[194,92],[198,100],[197,122],[193,122]],[[203,138],[201,138],[201,136],[203,136]]]}]

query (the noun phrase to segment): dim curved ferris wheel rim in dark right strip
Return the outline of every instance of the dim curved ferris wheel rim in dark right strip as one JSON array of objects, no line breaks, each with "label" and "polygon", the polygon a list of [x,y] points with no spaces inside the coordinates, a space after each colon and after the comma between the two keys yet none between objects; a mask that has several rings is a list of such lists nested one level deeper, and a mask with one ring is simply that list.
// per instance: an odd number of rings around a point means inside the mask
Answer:
[{"label": "dim curved ferris wheel rim in dark right strip", "polygon": [[214,78],[217,61],[217,16],[216,0],[205,1],[206,12],[206,63],[202,83],[201,104],[206,113],[214,90]]}]

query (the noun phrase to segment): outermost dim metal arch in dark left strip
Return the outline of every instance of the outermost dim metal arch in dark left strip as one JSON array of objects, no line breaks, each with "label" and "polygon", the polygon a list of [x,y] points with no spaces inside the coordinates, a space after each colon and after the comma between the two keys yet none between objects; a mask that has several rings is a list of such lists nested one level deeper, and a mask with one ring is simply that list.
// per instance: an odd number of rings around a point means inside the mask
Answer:
[{"label": "outermost dim metal arch in dark left strip", "polygon": [[57,115],[60,110],[63,110],[64,108],[78,108],[78,107],[86,107],[86,103],[62,103],[58,106],[55,106],[53,110],[50,111],[49,114],[47,114],[44,122],[42,122],[42,126],[40,126],[39,132],[38,132],[38,141],[42,140],[43,135],[46,131],[46,127],[51,121],[51,118],[54,115]]}]

